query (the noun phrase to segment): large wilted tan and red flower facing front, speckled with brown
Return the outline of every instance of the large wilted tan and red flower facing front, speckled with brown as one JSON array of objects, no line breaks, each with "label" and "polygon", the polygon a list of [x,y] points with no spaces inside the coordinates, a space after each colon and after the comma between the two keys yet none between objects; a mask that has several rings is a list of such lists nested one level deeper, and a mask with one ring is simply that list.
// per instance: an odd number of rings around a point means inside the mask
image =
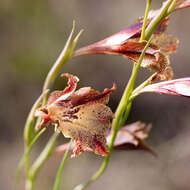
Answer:
[{"label": "large wilted tan and red flower facing front, speckled with brown", "polygon": [[42,117],[39,127],[52,124],[65,137],[72,138],[75,143],[74,156],[86,149],[107,155],[106,134],[113,113],[106,104],[109,94],[116,89],[115,84],[102,93],[90,87],[74,92],[79,79],[67,73],[62,76],[69,79],[68,87],[52,92],[47,105],[36,111],[36,116]]}]

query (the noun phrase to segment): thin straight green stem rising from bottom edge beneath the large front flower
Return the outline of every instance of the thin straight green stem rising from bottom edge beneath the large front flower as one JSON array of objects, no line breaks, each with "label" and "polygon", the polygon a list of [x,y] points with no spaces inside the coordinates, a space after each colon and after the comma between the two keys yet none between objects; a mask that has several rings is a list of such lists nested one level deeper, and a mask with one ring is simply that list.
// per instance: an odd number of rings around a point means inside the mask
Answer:
[{"label": "thin straight green stem rising from bottom edge beneath the large front flower", "polygon": [[54,186],[53,186],[53,190],[59,190],[59,186],[60,186],[60,183],[61,183],[61,176],[62,176],[62,173],[63,173],[63,169],[65,167],[65,163],[68,159],[68,156],[69,156],[69,151],[70,151],[70,147],[71,147],[71,144],[72,144],[72,140],[70,140],[70,143],[69,143],[69,146],[63,156],[63,159],[61,161],[61,164],[59,166],[59,170],[57,172],[57,176],[56,176],[56,180],[55,180],[55,183],[54,183]]}]

